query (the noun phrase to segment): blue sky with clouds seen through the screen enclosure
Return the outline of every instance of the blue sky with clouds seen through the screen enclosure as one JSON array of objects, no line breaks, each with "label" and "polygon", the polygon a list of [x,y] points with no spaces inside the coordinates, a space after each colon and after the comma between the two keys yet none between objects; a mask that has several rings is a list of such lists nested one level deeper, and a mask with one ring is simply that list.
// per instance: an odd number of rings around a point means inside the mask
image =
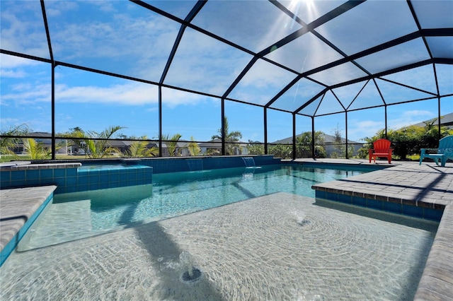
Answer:
[{"label": "blue sky with clouds seen through the screen enclosure", "polygon": [[[195,4],[195,1],[147,2],[182,19]],[[304,22],[310,23],[343,2],[306,1],[301,4],[283,1],[282,4],[297,12]],[[409,18],[406,1],[385,1],[386,6],[379,2],[382,1],[360,4],[351,10],[350,13],[355,9],[357,11],[353,16],[345,13],[317,30],[345,54],[355,54],[416,29]],[[420,12],[422,26],[453,27],[451,18],[428,21],[432,19],[428,18],[429,13],[443,11],[445,14],[445,11],[451,11],[451,1],[440,1],[439,6],[430,7],[423,6],[423,2],[414,2],[415,11]],[[1,1],[0,8],[1,49],[50,59],[40,1]],[[45,1],[45,8],[52,54],[56,61],[151,83],[161,81],[180,23],[129,1]],[[370,11],[373,15],[369,15]],[[386,22],[380,23],[381,30],[374,30],[378,20]],[[192,23],[231,40],[241,49],[230,47],[193,28],[185,28],[164,78],[162,134],[173,136],[178,133],[183,140],[209,141],[213,135],[219,134],[222,122],[221,101],[210,95],[224,95],[236,76],[253,59],[253,52],[275,45],[302,25],[282,14],[272,4],[263,4],[263,1],[242,1],[241,6],[236,1],[208,1]],[[351,30],[354,30],[353,35]],[[451,37],[429,37],[428,44],[432,46],[433,55],[452,58]],[[258,59],[227,95],[228,98],[254,105],[225,101],[229,130],[241,131],[242,141],[264,141],[264,110],[258,105],[270,101],[295,78],[296,74],[290,70],[310,71],[341,58],[338,52],[311,33],[283,47],[276,47],[265,57],[287,69]],[[369,71],[379,72],[427,58],[429,54],[423,40],[418,38],[395,49],[361,57],[357,63]],[[339,130],[345,136],[346,115],[331,113],[342,112],[343,107],[350,110],[369,107],[367,110],[348,112],[348,138],[362,141],[367,136],[373,136],[385,127],[384,107],[376,107],[383,104],[379,92],[388,104],[432,98],[437,93],[433,70],[433,65],[428,64],[377,78],[375,82],[363,81],[328,91],[322,99],[316,99],[305,107],[301,111],[304,115],[297,115],[296,133],[311,131],[309,116],[316,114],[321,115],[315,118],[316,131],[334,134]],[[452,95],[452,65],[435,64],[435,70],[440,94]],[[334,85],[363,74],[351,63],[314,73],[311,78],[317,82],[303,78],[270,107],[297,110],[304,101],[323,90],[322,83]],[[19,124],[26,124],[32,131],[52,131],[51,64],[0,54],[0,76],[1,131]],[[180,87],[206,95],[167,87]],[[157,138],[159,135],[157,85],[57,65],[55,100],[57,133],[70,131],[74,127],[85,131],[103,131],[109,126],[122,126],[118,134],[125,136]],[[387,126],[399,129],[433,119],[437,117],[438,105],[437,98],[389,105]],[[441,114],[453,112],[452,96],[441,98],[440,111]],[[292,114],[268,110],[267,117],[268,142],[292,136]]]}]

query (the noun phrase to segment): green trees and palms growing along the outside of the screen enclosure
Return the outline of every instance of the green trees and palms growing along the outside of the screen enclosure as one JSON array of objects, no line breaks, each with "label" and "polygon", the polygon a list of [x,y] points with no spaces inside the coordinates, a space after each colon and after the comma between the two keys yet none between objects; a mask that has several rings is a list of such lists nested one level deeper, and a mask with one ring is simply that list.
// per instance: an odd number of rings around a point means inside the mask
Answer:
[{"label": "green trees and palms growing along the outside of the screen enclosure", "polygon": [[[68,132],[62,134],[66,140],[69,140],[73,146],[77,146],[84,150],[87,158],[105,158],[109,154],[117,154],[122,158],[141,158],[141,157],[156,157],[159,155],[159,148],[155,143],[151,143],[147,136],[139,138],[132,137],[134,141],[130,143],[126,150],[120,151],[119,149],[110,146],[108,140],[115,134],[124,129],[122,126],[109,126],[101,132],[84,131],[79,127],[69,129]],[[0,155],[14,155],[13,149],[22,143],[23,150],[31,160],[45,160],[50,158],[52,150],[42,143],[36,141],[34,138],[21,138],[30,134],[30,129],[25,124],[13,126],[7,131],[2,131],[0,134],[3,136],[0,139]],[[222,129],[217,131],[217,134],[212,136],[212,140],[222,138]],[[436,148],[440,138],[453,134],[453,129],[448,126],[437,126],[437,119],[432,119],[425,122],[425,126],[406,126],[402,129],[390,130],[385,132],[381,129],[371,137],[365,137],[363,140],[367,141],[362,148],[353,155],[353,147],[348,149],[348,158],[367,158],[368,149],[372,148],[373,141],[379,138],[387,138],[392,142],[394,148],[394,155],[397,159],[405,160],[408,156],[418,160],[420,148]],[[224,135],[225,135],[225,148],[227,154],[233,154],[236,148],[239,148],[241,141],[241,131],[230,131],[228,119],[224,118]],[[120,135],[124,140],[127,137]],[[162,135],[161,141],[166,143],[166,150],[169,156],[181,155],[182,148],[178,148],[178,141],[182,136],[180,134]],[[314,154],[311,152],[312,139],[314,137]],[[335,140],[333,147],[335,151],[331,153],[331,158],[345,158],[346,149],[345,144],[341,143],[341,135],[338,127],[335,131]],[[132,139],[130,137],[130,139]],[[60,141],[55,148],[64,147],[66,141]],[[324,141],[323,131],[315,131],[314,136],[311,132],[306,131],[296,137],[296,158],[326,158],[326,143]],[[193,136],[190,137],[187,146],[188,154],[194,155],[220,155],[219,151],[215,148],[209,149],[206,153],[202,153],[200,146],[195,142]],[[263,155],[265,148],[263,143],[257,141],[248,141],[247,151],[249,155]],[[268,153],[275,155],[278,158],[292,158],[293,148],[292,144],[276,144],[268,145]]]}]

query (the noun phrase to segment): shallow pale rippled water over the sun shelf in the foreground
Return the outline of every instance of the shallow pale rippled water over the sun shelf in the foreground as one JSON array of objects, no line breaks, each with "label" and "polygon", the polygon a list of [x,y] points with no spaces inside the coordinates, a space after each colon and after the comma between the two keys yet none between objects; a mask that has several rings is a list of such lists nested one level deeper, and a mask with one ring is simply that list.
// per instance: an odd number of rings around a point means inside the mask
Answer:
[{"label": "shallow pale rippled water over the sun shelf in the foreground", "polygon": [[14,252],[0,299],[413,300],[436,228],[281,192]]}]

